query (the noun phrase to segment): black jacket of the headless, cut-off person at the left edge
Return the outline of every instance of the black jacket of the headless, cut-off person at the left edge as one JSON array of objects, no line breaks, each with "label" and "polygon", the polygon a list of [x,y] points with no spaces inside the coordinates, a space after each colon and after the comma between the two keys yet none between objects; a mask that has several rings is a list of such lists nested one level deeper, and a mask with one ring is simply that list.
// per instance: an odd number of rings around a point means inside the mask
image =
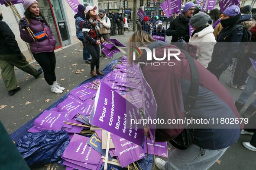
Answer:
[{"label": "black jacket of the headless, cut-off person at the left edge", "polygon": [[10,27],[0,20],[0,54],[20,53],[19,46]]}]

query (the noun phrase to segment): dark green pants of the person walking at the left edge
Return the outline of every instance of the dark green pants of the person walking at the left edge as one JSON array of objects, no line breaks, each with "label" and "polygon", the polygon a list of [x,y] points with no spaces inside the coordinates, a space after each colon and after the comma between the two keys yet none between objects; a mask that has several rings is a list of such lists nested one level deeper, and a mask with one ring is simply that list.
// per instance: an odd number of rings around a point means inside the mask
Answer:
[{"label": "dark green pants of the person walking at the left edge", "polygon": [[0,54],[1,74],[3,77],[3,83],[8,91],[17,88],[14,66],[31,74],[32,76],[37,73],[36,69],[29,65],[23,54],[21,58],[18,54]]}]

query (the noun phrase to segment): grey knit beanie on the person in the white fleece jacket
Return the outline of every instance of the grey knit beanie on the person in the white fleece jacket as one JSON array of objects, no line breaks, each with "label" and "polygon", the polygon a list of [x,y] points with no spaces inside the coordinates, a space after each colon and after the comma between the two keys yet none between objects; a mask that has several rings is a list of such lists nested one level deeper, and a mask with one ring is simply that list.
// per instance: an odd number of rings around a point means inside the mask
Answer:
[{"label": "grey knit beanie on the person in the white fleece jacket", "polygon": [[197,13],[191,17],[189,24],[194,28],[201,28],[211,19],[206,13]]}]

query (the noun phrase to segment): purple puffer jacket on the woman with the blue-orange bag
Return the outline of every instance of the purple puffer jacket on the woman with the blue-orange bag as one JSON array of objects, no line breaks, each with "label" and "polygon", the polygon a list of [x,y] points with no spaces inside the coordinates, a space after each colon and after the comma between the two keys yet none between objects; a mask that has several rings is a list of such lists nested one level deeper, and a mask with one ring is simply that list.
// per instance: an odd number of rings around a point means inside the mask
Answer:
[{"label": "purple puffer jacket on the woman with the blue-orange bag", "polygon": [[52,30],[48,25],[45,25],[45,23],[32,18],[29,23],[29,28],[32,30],[33,33],[38,33],[40,31],[43,31],[42,24],[46,29],[46,34],[48,35],[48,38],[43,41],[34,41],[28,31],[23,31],[21,29],[19,23],[20,37],[23,41],[29,43],[32,53],[52,52],[55,49],[56,40],[53,37]]}]

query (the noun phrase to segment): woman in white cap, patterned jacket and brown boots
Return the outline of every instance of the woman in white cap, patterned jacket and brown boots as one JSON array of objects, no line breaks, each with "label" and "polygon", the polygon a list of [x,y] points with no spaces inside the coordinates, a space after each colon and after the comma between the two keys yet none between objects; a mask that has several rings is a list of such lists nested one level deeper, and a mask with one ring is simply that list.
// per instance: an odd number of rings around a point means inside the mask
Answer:
[{"label": "woman in white cap, patterned jacket and brown boots", "polygon": [[[83,24],[84,44],[91,54],[91,75],[96,77],[97,74],[104,76],[100,71],[100,41],[104,41],[100,32],[100,20],[95,13],[96,6],[88,5],[85,9],[86,17]],[[96,72],[94,67],[96,66]]]}]

